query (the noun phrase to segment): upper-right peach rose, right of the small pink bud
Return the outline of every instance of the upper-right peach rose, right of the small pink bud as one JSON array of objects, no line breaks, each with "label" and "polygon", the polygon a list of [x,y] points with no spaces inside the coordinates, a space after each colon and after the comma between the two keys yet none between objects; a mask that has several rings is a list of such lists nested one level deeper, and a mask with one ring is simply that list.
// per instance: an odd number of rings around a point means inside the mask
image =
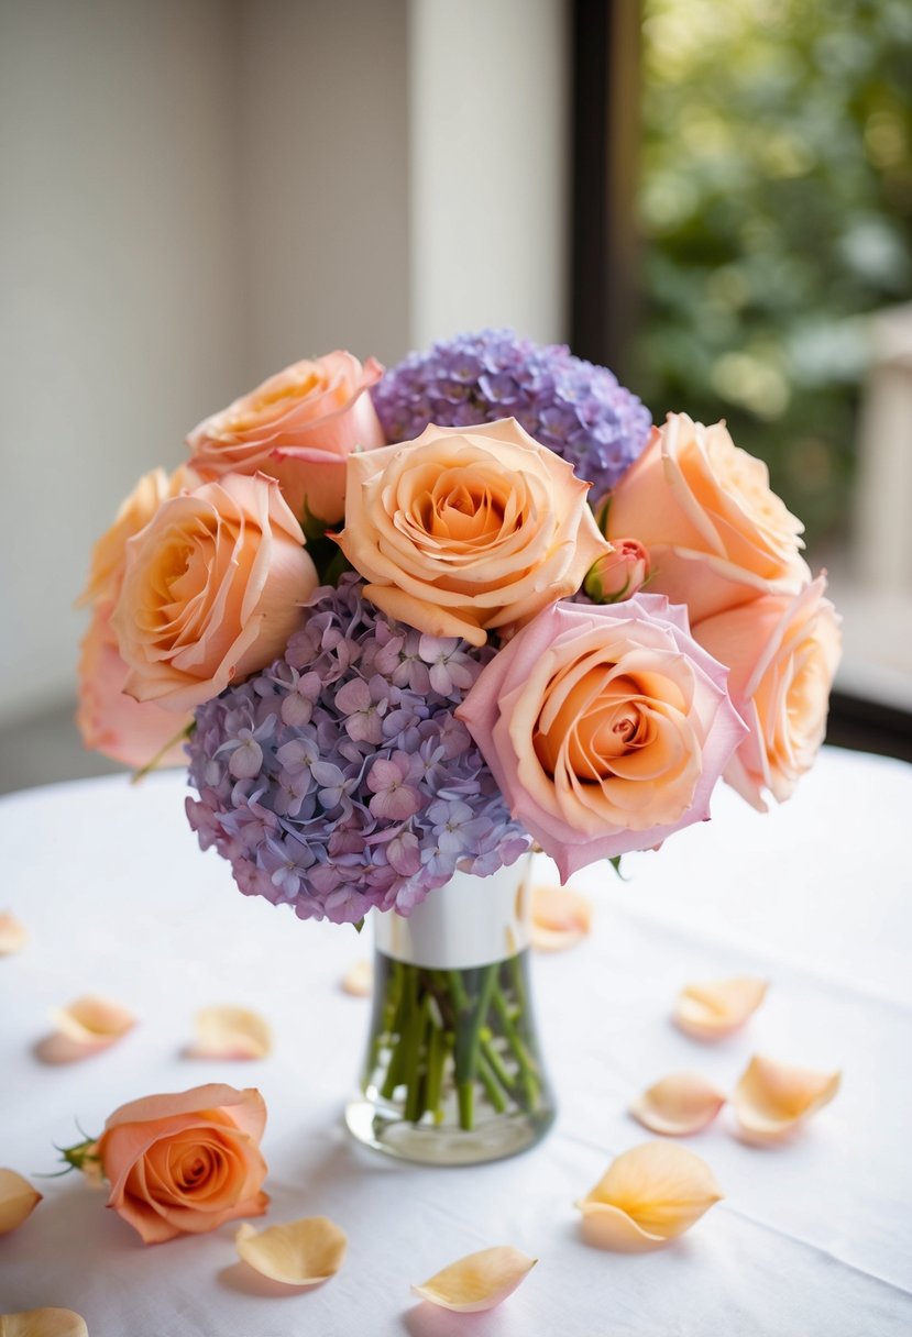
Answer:
[{"label": "upper-right peach rose, right of the small pink bud", "polygon": [[725,424],[669,413],[611,496],[606,532],[633,535],[653,564],[650,590],[686,603],[691,626],[760,594],[797,594],[810,579],[801,521],[769,487],[761,460]]}]

